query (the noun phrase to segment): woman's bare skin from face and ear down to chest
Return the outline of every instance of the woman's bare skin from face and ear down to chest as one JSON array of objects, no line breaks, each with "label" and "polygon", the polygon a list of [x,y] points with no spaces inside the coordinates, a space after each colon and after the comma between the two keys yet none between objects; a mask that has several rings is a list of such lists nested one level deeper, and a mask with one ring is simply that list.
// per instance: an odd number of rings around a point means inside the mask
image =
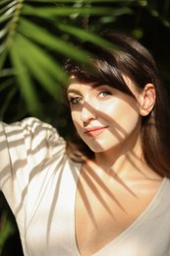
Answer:
[{"label": "woman's bare skin from face and ear down to chest", "polygon": [[83,164],[76,199],[76,237],[83,256],[133,224],[162,181],[142,159],[142,116],[154,106],[154,87],[147,84],[139,92],[125,80],[134,96],[74,77],[68,88],[73,122],[95,156]]}]

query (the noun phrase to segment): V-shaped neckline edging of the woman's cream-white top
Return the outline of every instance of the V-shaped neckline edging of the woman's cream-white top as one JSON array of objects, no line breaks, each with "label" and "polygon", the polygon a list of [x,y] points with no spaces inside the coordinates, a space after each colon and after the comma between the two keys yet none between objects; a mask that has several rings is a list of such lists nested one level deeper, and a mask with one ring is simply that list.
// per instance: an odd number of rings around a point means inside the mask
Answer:
[{"label": "V-shaped neckline edging of the woman's cream-white top", "polygon": [[[81,164],[80,164],[81,165]],[[78,244],[77,244],[77,237],[76,237],[76,197],[77,197],[77,189],[78,189],[78,182],[80,179],[80,175],[81,175],[81,171],[82,171],[82,167],[79,167],[79,175],[78,175],[78,179],[77,179],[77,185],[76,185],[76,189],[75,189],[75,195],[74,195],[74,207],[73,207],[73,245],[74,245],[74,251],[76,253],[75,256],[82,256],[79,248],[78,248]],[[125,237],[126,235],[128,235],[130,233],[130,231],[133,231],[136,226],[140,223],[142,223],[142,220],[144,220],[144,218],[149,215],[151,209],[154,207],[154,205],[157,202],[158,197],[161,195],[162,190],[164,188],[164,185],[167,181],[167,178],[164,177],[156,191],[156,193],[154,194],[153,198],[151,199],[151,201],[148,203],[148,205],[145,207],[145,209],[142,211],[142,213],[139,215],[139,217],[132,223],[130,224],[125,230],[123,230],[118,236],[116,236],[114,239],[112,239],[110,242],[108,242],[107,244],[105,244],[103,247],[101,247],[98,251],[94,252],[93,254],[91,254],[91,256],[100,256],[101,253],[104,253],[111,245],[115,245],[117,243],[119,243],[121,241],[121,239],[123,237]],[[104,254],[103,254],[104,255]]]}]

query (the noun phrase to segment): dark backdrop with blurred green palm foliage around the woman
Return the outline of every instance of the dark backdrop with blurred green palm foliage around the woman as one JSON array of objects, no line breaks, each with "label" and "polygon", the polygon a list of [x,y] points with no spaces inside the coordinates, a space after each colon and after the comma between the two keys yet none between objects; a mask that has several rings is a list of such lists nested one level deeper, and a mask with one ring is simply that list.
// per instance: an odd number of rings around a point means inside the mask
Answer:
[{"label": "dark backdrop with blurred green palm foliage around the woman", "polygon": [[[155,58],[170,93],[169,0],[1,0],[0,120],[14,122],[36,116],[70,131],[61,102],[68,57],[85,61],[76,45],[96,44],[103,30],[128,32]],[[22,256],[14,217],[0,194],[0,255]]]}]

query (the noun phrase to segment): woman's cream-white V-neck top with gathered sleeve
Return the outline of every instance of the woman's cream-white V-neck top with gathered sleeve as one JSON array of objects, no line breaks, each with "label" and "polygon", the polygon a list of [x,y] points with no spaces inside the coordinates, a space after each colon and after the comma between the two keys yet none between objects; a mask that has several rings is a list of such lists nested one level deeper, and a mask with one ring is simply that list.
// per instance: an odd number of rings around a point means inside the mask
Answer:
[{"label": "woman's cream-white V-neck top with gathered sleeve", "polygon": [[[48,124],[28,118],[0,126],[0,187],[19,225],[26,256],[81,256],[75,201],[81,164]],[[170,255],[170,181],[142,215],[93,256]]]}]

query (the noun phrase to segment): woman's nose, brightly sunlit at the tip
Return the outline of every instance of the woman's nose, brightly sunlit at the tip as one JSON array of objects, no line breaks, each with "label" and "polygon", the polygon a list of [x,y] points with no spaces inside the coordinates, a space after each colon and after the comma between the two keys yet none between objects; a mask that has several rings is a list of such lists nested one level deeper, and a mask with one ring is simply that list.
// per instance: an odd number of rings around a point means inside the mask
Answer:
[{"label": "woman's nose, brightly sunlit at the tip", "polygon": [[84,101],[82,112],[81,112],[82,121],[88,122],[91,119],[95,119],[95,118],[96,118],[96,109],[94,108],[94,106]]}]

